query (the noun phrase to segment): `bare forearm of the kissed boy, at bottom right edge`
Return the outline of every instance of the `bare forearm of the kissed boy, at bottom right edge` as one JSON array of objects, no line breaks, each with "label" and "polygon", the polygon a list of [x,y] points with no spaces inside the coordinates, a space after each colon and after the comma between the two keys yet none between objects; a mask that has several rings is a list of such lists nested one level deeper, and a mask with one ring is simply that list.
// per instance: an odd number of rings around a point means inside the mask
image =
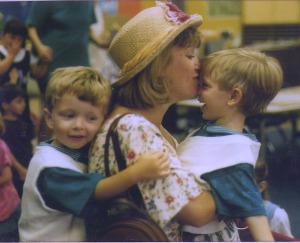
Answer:
[{"label": "bare forearm of the kissed boy, at bottom right edge", "polygon": [[266,216],[248,217],[246,222],[254,241],[274,241]]}]

